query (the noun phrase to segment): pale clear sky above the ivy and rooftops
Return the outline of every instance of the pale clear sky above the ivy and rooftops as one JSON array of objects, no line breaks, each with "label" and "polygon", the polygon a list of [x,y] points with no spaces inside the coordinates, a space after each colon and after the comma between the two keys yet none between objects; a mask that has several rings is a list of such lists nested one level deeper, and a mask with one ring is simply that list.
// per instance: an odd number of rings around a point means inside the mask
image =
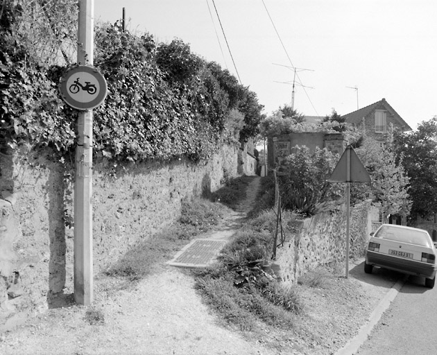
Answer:
[{"label": "pale clear sky above the ivy and rooftops", "polygon": [[94,19],[114,23],[123,8],[128,31],[189,44],[266,115],[291,105],[294,82],[308,116],[382,98],[413,129],[437,116],[436,0],[94,0]]}]

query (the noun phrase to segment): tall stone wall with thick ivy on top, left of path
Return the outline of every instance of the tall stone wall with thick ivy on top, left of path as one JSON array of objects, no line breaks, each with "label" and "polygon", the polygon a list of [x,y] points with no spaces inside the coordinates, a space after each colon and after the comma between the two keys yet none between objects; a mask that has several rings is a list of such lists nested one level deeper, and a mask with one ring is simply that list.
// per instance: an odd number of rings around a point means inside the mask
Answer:
[{"label": "tall stone wall with thick ivy on top, left of path", "polygon": [[[71,291],[78,112],[58,83],[75,64],[77,18],[76,0],[1,6],[0,303],[37,309]],[[177,218],[183,198],[244,173],[237,150],[257,135],[263,106],[182,40],[118,23],[95,26],[94,66],[108,82],[93,120],[98,272]]]}]

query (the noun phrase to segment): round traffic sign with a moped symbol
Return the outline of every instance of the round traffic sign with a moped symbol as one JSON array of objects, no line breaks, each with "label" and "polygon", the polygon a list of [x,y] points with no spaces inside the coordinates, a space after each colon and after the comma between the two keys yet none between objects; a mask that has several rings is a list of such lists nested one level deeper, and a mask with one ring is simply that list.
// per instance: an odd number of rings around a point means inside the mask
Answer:
[{"label": "round traffic sign with a moped symbol", "polygon": [[91,110],[103,103],[108,94],[108,85],[96,68],[78,65],[62,76],[59,90],[71,107]]}]

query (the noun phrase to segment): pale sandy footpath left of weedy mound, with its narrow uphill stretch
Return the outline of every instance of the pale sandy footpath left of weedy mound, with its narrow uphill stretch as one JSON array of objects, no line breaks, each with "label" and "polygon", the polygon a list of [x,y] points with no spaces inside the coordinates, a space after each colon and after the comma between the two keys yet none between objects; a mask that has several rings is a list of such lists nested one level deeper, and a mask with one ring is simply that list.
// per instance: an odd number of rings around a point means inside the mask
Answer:
[{"label": "pale sandy footpath left of weedy mound, with its narrow uphill stretch", "polygon": [[[257,193],[259,178],[248,198],[230,216],[238,227]],[[216,233],[232,234],[233,227]],[[218,325],[194,291],[183,269],[165,266],[134,290],[98,289],[89,307],[51,309],[28,324],[0,336],[0,354],[273,354]]]}]

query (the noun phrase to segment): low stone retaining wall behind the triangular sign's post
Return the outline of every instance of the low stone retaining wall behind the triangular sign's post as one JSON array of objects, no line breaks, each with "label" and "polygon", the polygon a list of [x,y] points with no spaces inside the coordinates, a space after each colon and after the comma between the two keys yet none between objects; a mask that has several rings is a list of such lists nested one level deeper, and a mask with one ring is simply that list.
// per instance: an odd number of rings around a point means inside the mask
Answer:
[{"label": "low stone retaining wall behind the triangular sign's post", "polygon": [[[363,256],[372,223],[370,202],[351,209],[350,257]],[[277,249],[276,263],[280,266],[284,284],[294,284],[305,272],[330,262],[345,261],[345,207],[337,213],[323,212],[302,220],[302,225],[283,248]]]}]

